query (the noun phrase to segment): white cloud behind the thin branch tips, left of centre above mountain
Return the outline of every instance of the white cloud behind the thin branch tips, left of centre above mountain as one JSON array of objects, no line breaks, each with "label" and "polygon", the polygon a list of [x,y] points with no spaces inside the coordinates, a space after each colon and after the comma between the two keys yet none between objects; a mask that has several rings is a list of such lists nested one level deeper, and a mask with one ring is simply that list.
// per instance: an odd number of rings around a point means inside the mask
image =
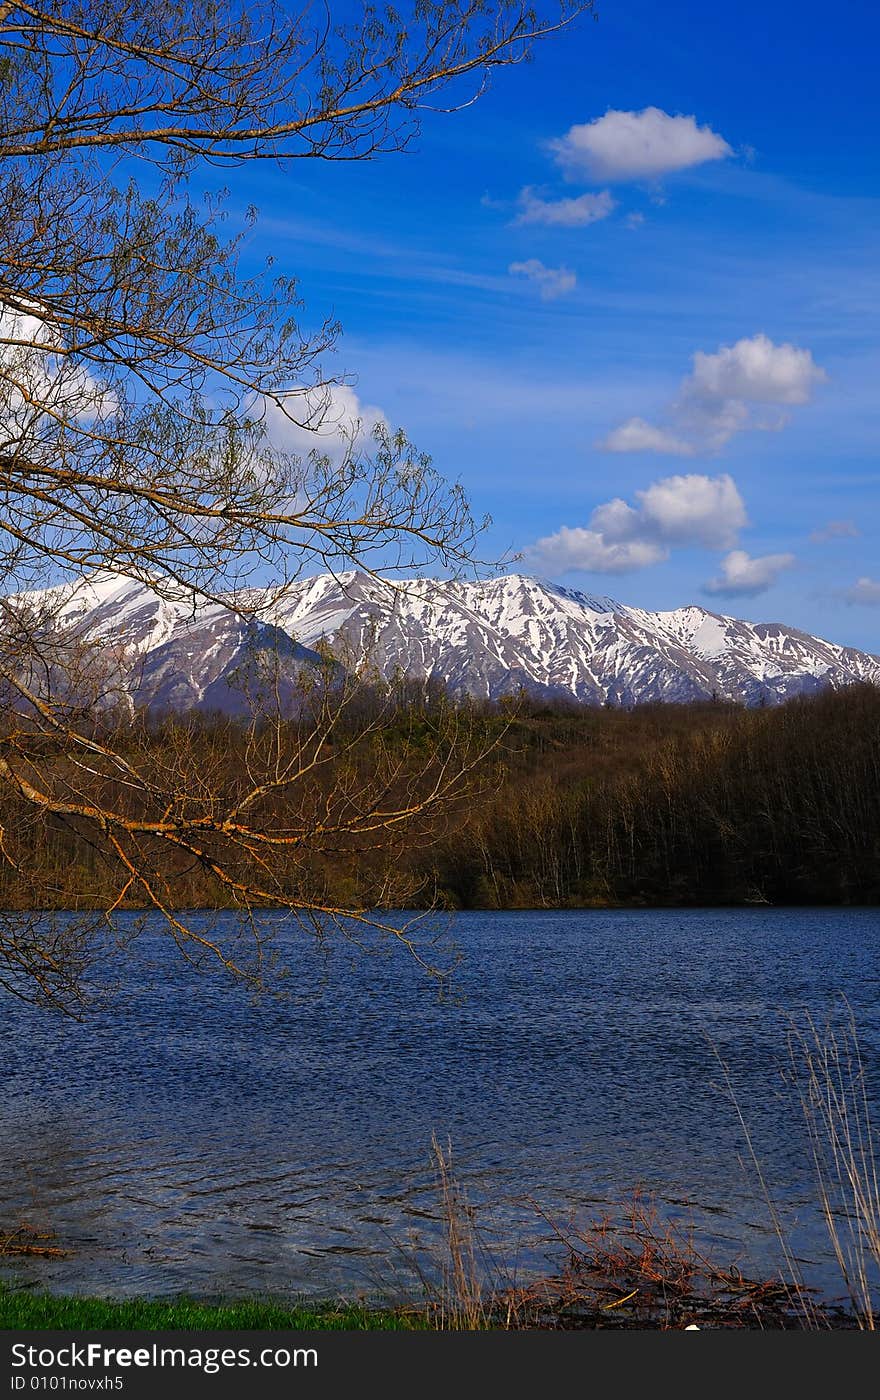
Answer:
[{"label": "white cloud behind the thin branch tips, left of centre above mountain", "polygon": [[353,449],[365,447],[375,427],[388,427],[382,410],[361,403],[348,384],[294,389],[285,395],[284,409],[270,399],[264,405],[273,447],[302,458],[319,452],[340,462]]}]

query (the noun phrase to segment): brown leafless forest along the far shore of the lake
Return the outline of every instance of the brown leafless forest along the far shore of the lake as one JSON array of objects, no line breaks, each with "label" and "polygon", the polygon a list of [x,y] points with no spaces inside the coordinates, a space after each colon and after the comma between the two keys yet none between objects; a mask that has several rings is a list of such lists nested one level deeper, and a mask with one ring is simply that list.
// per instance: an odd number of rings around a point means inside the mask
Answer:
[{"label": "brown leafless forest along the far shore of the lake", "polygon": [[[880,900],[880,690],[873,686],[751,710],[723,701],[623,710],[529,699],[456,707],[434,687],[411,686],[390,708],[388,696],[382,706],[381,725],[364,722],[365,699],[360,718],[353,711],[327,735],[325,762],[295,788],[295,813],[278,798],[278,829],[299,823],[306,832],[291,846],[304,899],[344,907],[439,900],[462,909]],[[301,742],[298,724],[306,721],[287,722],[288,746]],[[315,837],[327,795],[347,801],[357,790],[353,774],[378,762],[378,745],[399,802],[402,792],[435,781],[438,762],[449,760],[462,734],[466,781],[396,844],[322,846]],[[222,769],[231,781],[241,769],[243,788],[255,739],[234,720],[190,715],[143,724],[127,742],[165,770],[182,753],[190,773]],[[119,735],[115,743],[125,752]],[[59,774],[67,762],[59,750]],[[36,820],[32,804],[14,792],[1,801],[3,907],[34,907],[36,869],[45,907],[148,903],[137,882],[119,897],[101,843],[76,813]],[[130,785],[108,792],[104,781],[101,801],[125,811],[137,798]],[[165,861],[164,888],[178,907],[235,903],[208,864],[161,850],[151,861]]]}]

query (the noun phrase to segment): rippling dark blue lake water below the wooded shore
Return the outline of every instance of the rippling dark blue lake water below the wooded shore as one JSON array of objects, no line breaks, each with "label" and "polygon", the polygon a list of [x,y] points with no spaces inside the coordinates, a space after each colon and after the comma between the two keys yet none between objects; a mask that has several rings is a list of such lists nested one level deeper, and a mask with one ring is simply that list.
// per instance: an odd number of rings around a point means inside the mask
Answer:
[{"label": "rippling dark blue lake water below the wooded shore", "polygon": [[845,997],[877,1102],[880,913],[466,913],[453,934],[442,1001],[400,949],[322,955],[281,925],[284,1001],[189,970],[150,931],[85,1023],[0,1001],[0,1233],[27,1222],[71,1250],[7,1275],[118,1296],[411,1292],[438,1231],[432,1134],[506,1270],[553,1257],[526,1197],[588,1218],[639,1184],[722,1261],[774,1267],[716,1051],[807,1275],[841,1291],[783,1016],[839,1016]]}]

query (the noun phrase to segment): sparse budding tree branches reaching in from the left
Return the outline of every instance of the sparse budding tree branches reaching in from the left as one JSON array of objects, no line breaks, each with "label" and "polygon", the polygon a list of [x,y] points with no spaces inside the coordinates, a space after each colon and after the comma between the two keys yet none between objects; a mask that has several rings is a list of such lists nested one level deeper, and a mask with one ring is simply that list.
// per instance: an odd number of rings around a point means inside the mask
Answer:
[{"label": "sparse budding tree branches reaching in from the left", "polygon": [[[147,904],[185,955],[253,984],[260,907],[423,956],[369,907],[411,895],[400,843],[432,839],[471,791],[473,715],[404,703],[364,657],[309,669],[257,645],[236,721],[157,725],[125,640],[95,647],[45,587],[111,570],[245,626],[304,571],[473,567],[460,484],[406,433],[340,412],[339,326],[308,321],[292,276],[245,276],[252,218],[229,231],[222,193],[190,181],[400,151],[421,111],[469,105],[590,8],[346,3],[340,21],[274,0],[0,3],[0,871],[18,902],[67,900],[106,927]],[[351,876],[343,900],[327,872],[355,855],[369,890]],[[242,913],[246,955],[180,913],[196,879]],[[0,981],[76,1008],[97,927],[0,920]]]}]

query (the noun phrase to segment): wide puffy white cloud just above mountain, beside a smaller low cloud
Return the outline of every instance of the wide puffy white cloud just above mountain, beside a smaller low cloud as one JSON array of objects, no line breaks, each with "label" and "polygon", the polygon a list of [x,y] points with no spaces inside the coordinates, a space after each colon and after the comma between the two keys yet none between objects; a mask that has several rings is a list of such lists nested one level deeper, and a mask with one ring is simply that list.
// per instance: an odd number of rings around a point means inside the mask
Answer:
[{"label": "wide puffy white cloud just above mountain, beside a smaller low cloud", "polygon": [[547,573],[623,574],[669,559],[676,545],[729,549],[747,524],[728,475],[667,476],[637,491],[635,501],[616,497],[597,505],[586,526],[562,526],[539,539],[526,559]]}]

